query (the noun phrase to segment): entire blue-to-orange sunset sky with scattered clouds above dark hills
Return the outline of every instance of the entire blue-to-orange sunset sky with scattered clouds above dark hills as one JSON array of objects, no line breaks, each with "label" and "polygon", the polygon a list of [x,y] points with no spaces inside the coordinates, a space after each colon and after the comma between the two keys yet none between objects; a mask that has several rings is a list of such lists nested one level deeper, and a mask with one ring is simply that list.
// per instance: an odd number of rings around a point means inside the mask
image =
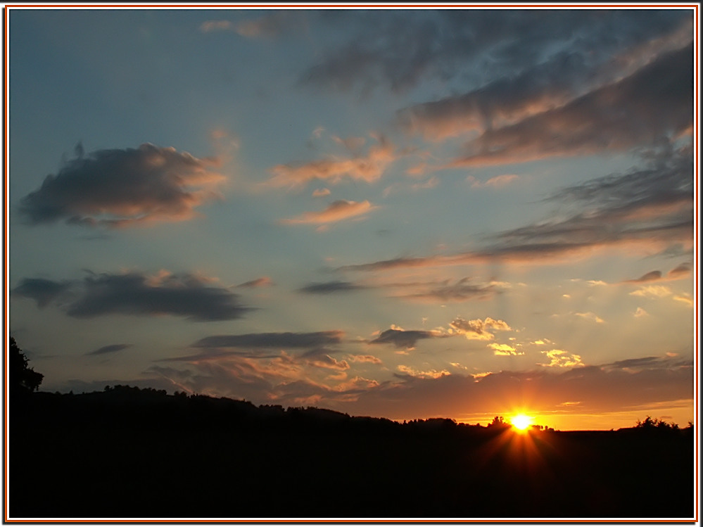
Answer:
[{"label": "entire blue-to-orange sunset sky with scattered clouds above dark hills", "polygon": [[9,334],[42,391],[685,426],[695,5],[11,6]]}]

